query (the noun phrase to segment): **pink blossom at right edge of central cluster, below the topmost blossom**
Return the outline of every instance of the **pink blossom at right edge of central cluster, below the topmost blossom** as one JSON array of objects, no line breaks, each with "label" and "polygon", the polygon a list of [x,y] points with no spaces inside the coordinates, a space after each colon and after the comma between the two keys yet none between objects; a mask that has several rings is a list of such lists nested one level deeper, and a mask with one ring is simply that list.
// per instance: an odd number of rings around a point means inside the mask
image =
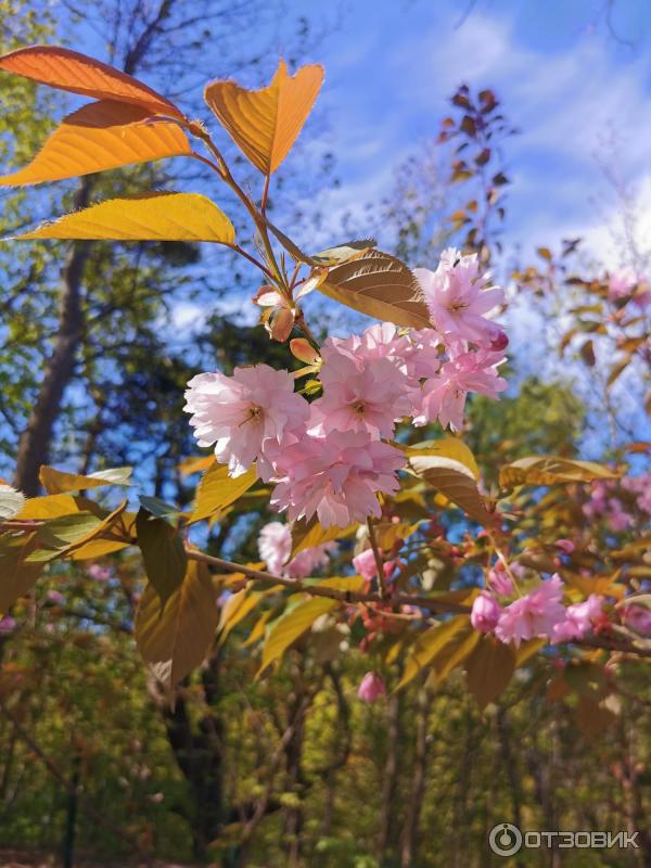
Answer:
[{"label": "pink blossom at right edge of central cluster, below the topmost blossom", "polygon": [[420,412],[414,416],[414,425],[438,422],[458,431],[463,426],[463,409],[469,392],[477,392],[497,398],[507,387],[499,376],[497,366],[505,357],[501,353],[480,349],[462,352],[446,361],[437,376],[426,380],[420,400]]}]

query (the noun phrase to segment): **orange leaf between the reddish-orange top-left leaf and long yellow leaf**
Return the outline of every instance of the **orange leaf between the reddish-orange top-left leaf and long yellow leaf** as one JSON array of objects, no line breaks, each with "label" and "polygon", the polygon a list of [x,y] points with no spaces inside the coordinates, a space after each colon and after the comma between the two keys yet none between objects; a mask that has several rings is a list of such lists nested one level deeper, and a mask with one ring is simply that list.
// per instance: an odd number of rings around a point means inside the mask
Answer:
[{"label": "orange leaf between the reddish-orange top-left leaf and long yellow leaf", "polygon": [[191,154],[188,137],[169,120],[145,123],[140,105],[102,100],[68,115],[28,166],[0,186],[58,181],[132,163]]}]

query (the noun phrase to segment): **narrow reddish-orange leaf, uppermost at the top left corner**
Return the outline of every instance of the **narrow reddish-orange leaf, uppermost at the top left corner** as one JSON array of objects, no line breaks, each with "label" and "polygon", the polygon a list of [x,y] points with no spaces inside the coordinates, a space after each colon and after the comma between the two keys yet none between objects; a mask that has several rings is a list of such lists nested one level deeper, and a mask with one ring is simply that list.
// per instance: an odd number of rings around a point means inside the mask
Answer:
[{"label": "narrow reddish-orange leaf, uppermost at the top left corner", "polygon": [[183,117],[174,103],[137,78],[67,48],[21,48],[0,58],[0,69],[72,93],[130,102],[149,110],[151,114]]}]

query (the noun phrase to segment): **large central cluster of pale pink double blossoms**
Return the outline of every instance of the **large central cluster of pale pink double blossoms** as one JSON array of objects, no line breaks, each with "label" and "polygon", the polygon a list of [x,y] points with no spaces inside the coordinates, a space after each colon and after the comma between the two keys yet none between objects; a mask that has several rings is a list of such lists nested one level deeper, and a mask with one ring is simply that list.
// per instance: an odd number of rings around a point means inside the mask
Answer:
[{"label": "large central cluster of pale pink double blossoms", "polygon": [[289,371],[268,365],[202,373],[188,384],[184,409],[199,444],[215,445],[232,476],[255,462],[275,484],[271,505],[291,521],[316,514],[324,527],[345,527],[379,516],[378,495],[398,489],[405,465],[383,442],[396,423],[460,429],[469,392],[497,398],[506,388],[497,369],[508,340],[484,316],[503,293],[488,286],[476,256],[446,251],[436,271],[416,273],[434,328],[382,323],[328,339],[322,395],[311,404],[294,392]]}]

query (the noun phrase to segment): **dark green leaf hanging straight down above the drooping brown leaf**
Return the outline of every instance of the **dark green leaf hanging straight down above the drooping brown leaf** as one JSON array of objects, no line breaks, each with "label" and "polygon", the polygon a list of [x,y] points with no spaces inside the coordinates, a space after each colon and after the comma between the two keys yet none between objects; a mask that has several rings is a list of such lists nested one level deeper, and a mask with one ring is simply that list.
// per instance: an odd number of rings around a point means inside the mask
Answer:
[{"label": "dark green leaf hanging straight down above the drooping brown leaf", "polygon": [[186,575],[188,556],[181,537],[163,519],[154,519],[145,509],[136,518],[138,545],[148,578],[161,598],[161,608],[179,588]]}]

